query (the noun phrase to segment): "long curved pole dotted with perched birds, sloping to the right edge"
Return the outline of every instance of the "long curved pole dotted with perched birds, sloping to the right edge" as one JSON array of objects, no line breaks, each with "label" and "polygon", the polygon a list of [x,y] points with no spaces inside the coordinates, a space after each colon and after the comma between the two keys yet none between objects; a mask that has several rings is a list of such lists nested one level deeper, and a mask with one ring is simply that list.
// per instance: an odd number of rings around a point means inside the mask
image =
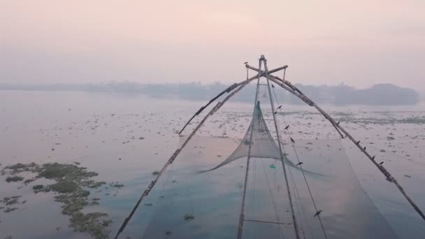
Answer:
[{"label": "long curved pole dotted with perched birds, sloping to the right edge", "polygon": [[[247,68],[252,69],[253,71],[258,71],[259,73],[262,73],[261,69],[246,65]],[[377,169],[379,171],[381,171],[381,173],[385,176],[385,178],[387,178],[387,180],[389,182],[393,182],[394,184],[396,184],[396,187],[399,191],[401,191],[401,194],[403,194],[403,196],[408,200],[408,202],[410,203],[410,205],[412,205],[412,207],[416,210],[416,212],[422,217],[422,219],[425,220],[425,215],[424,212],[422,212],[422,210],[416,205],[416,203],[412,200],[412,198],[410,198],[410,196],[408,196],[408,194],[405,192],[405,190],[403,189],[403,187],[401,187],[400,184],[398,184],[397,180],[391,175],[391,173],[389,173],[389,171],[387,171],[386,168],[384,168],[384,166],[382,164],[378,164],[377,161],[375,161],[375,156],[370,155],[367,151],[366,151],[366,147],[362,147],[360,145],[360,141],[355,140],[350,133],[348,133],[343,126],[340,126],[339,122],[336,122],[335,119],[333,119],[333,117],[331,117],[330,115],[328,115],[328,113],[326,113],[324,110],[322,110],[322,108],[320,108],[319,106],[317,106],[316,103],[314,103],[312,100],[310,100],[307,96],[305,96],[305,94],[303,94],[303,92],[301,92],[296,86],[292,85],[291,82],[284,80],[284,79],[280,79],[274,75],[268,75],[268,80],[271,80],[273,82],[275,82],[277,85],[280,85],[280,87],[286,89],[288,92],[291,92],[291,94],[294,94],[295,96],[297,96],[299,99],[301,99],[302,101],[304,101],[305,103],[307,103],[309,106],[313,106],[315,107],[319,113],[321,113],[326,119],[329,120],[329,122],[331,122],[331,124],[335,127],[335,129],[338,131],[338,133],[340,133],[341,136],[343,136],[343,133],[345,134],[345,136],[347,136],[347,138],[350,138],[350,140],[352,140],[352,142],[354,143],[354,145],[356,145],[359,150],[361,152],[363,152],[363,154],[366,155],[366,157],[368,157],[368,159],[370,161],[372,161],[372,163],[377,167]],[[342,132],[342,133],[341,133]]]}]

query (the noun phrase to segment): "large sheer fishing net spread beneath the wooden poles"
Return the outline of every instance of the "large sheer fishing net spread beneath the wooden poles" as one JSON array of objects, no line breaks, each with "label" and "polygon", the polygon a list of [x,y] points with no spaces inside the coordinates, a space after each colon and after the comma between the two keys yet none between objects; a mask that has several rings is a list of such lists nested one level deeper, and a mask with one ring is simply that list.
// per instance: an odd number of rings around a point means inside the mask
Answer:
[{"label": "large sheer fishing net spread beneath the wooden poles", "polygon": [[[276,113],[268,94],[261,93],[254,113],[229,106],[210,117],[205,124],[212,126],[189,140],[147,196],[130,233],[237,238],[247,173],[242,238],[296,238],[294,217],[300,238],[398,238],[363,190],[341,139],[303,139],[296,125],[284,130],[278,122],[280,152]],[[218,131],[222,134],[212,136]],[[180,145],[185,140],[181,136]]]}]

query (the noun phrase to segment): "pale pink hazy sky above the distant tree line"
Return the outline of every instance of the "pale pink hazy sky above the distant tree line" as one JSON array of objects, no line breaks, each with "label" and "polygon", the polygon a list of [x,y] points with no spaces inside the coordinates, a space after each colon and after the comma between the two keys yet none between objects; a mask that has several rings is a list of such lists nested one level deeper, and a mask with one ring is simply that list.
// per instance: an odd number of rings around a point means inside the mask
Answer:
[{"label": "pale pink hazy sky above the distant tree line", "polygon": [[425,1],[0,0],[0,82],[287,79],[425,91]]}]

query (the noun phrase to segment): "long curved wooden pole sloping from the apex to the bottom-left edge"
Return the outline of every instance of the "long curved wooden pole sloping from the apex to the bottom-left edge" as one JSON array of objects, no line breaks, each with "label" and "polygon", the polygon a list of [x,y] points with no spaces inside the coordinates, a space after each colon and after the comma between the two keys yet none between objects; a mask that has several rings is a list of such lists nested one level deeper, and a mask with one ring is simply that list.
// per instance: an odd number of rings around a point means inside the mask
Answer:
[{"label": "long curved wooden pole sloping from the apex to the bottom-left edge", "polygon": [[122,233],[122,231],[124,231],[125,227],[129,223],[131,217],[133,217],[134,212],[136,212],[136,209],[138,208],[138,205],[140,205],[141,202],[143,201],[143,198],[145,198],[145,196],[147,196],[147,194],[150,193],[150,191],[152,190],[152,188],[158,182],[159,178],[161,178],[161,175],[165,172],[166,168],[170,164],[173,163],[174,159],[178,156],[178,154],[180,154],[180,152],[187,145],[187,143],[189,143],[189,140],[192,139],[192,137],[195,135],[196,131],[198,131],[201,128],[201,126],[203,125],[204,122],[206,122],[206,120],[208,119],[208,117],[210,117],[210,115],[213,115],[217,110],[219,110],[219,108],[221,108],[224,105],[224,103],[226,103],[226,101],[228,101],[236,93],[240,92],[240,90],[243,89],[243,87],[245,87],[246,85],[248,85],[252,80],[254,80],[254,78],[245,80],[244,82],[242,82],[242,84],[240,84],[240,86],[239,86],[238,89],[235,89],[233,92],[231,92],[231,94],[229,94],[229,96],[227,96],[225,99],[223,99],[223,101],[219,101],[217,103],[217,105],[215,105],[214,108],[212,108],[210,110],[210,112],[201,120],[201,122],[198,124],[198,126],[196,126],[196,128],[192,131],[192,133],[190,133],[189,136],[187,136],[185,142],[182,143],[182,145],[180,145],[180,147],[177,150],[175,150],[175,152],[173,153],[173,155],[171,155],[170,159],[168,159],[168,161],[166,162],[166,164],[162,167],[161,171],[159,171],[159,173],[157,175],[157,178],[155,178],[147,186],[147,189],[145,189],[145,191],[143,192],[143,194],[141,195],[141,197],[138,199],[136,205],[134,206],[133,210],[131,210],[129,216],[122,223],[122,225],[120,227],[120,230],[118,230],[117,235],[115,236],[115,239],[117,239],[118,236],[120,236],[120,233]]}]

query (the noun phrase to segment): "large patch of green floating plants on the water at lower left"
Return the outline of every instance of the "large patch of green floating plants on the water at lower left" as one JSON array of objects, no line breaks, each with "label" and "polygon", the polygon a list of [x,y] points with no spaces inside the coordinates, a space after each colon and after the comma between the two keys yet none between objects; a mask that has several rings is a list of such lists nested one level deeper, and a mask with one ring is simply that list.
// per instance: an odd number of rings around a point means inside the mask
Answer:
[{"label": "large patch of green floating plants on the water at lower left", "polygon": [[[6,166],[1,171],[3,175],[8,175],[6,182],[17,182],[24,180],[23,177],[17,175],[19,173],[35,173],[35,178],[25,180],[24,184],[29,184],[39,178],[54,180],[55,183],[43,185],[36,184],[32,187],[34,193],[54,191],[57,195],[55,201],[62,203],[62,214],[69,215],[70,225],[75,231],[89,233],[96,239],[108,238],[108,226],[112,222],[108,218],[108,214],[104,212],[84,213],[82,209],[89,205],[99,204],[100,198],[92,198],[89,201],[90,191],[86,189],[95,189],[106,184],[106,182],[97,182],[90,178],[97,175],[87,168],[80,167],[78,164],[58,164],[48,163],[38,165],[31,164],[14,164]],[[123,184],[110,184],[112,187],[124,187]],[[5,197],[1,203],[5,205],[14,205],[18,203],[20,196]],[[26,201],[25,201],[26,202]],[[24,203],[24,202],[22,202]],[[18,208],[6,208],[4,212],[12,212]]]}]

